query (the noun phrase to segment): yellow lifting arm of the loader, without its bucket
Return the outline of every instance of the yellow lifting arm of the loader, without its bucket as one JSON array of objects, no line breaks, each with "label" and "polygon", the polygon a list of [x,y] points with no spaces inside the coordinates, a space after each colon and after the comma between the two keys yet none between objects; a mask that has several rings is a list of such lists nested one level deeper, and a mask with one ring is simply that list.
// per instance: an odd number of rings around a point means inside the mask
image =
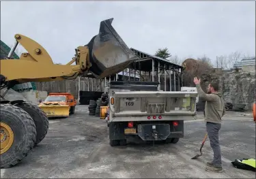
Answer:
[{"label": "yellow lifting arm of the loader, without its bucket", "polygon": [[[74,79],[79,73],[89,69],[89,50],[87,46],[76,48],[72,61],[66,65],[54,64],[48,52],[37,42],[25,35],[16,34],[17,44],[21,44],[27,52],[22,53],[20,59],[10,59],[12,48],[7,59],[1,59],[1,76],[5,81],[16,80],[23,82],[48,82],[53,80]],[[72,63],[76,65],[72,65]]]}]

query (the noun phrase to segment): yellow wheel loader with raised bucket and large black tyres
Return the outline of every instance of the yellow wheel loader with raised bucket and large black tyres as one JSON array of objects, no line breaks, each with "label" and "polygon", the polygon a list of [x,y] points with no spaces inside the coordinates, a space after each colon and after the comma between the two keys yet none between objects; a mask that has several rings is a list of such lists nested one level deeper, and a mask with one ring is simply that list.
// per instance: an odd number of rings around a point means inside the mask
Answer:
[{"label": "yellow wheel loader with raised bucket and large black tyres", "polygon": [[[23,82],[72,80],[87,73],[104,78],[125,69],[137,56],[126,46],[111,23],[113,18],[100,22],[100,32],[85,46],[75,49],[75,56],[66,65],[55,65],[51,56],[37,42],[16,34],[16,44],[7,58],[1,59],[1,167],[11,167],[21,161],[48,131],[48,118],[37,105],[18,98],[10,88]],[[83,34],[81,34],[83,37]],[[16,46],[27,52],[20,59],[10,59]],[[72,63],[75,63],[72,65]],[[12,95],[8,95],[12,91]]]}]

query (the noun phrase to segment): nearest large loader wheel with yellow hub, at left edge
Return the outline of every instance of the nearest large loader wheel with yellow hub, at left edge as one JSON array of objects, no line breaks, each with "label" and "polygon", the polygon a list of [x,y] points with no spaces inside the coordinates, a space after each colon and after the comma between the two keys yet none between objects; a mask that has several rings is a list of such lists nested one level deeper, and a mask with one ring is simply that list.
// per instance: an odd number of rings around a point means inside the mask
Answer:
[{"label": "nearest large loader wheel with yellow hub, at left edge", "polygon": [[35,143],[35,123],[25,110],[15,105],[1,104],[1,168],[19,163]]}]

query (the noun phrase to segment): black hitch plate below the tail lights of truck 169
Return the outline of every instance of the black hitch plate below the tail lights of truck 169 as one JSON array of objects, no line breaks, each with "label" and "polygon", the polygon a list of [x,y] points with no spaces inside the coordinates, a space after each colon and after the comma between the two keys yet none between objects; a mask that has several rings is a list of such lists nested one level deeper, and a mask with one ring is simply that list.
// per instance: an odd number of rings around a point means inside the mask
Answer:
[{"label": "black hitch plate below the tail lights of truck 169", "polygon": [[166,140],[170,133],[169,124],[138,125],[138,135],[142,140]]}]

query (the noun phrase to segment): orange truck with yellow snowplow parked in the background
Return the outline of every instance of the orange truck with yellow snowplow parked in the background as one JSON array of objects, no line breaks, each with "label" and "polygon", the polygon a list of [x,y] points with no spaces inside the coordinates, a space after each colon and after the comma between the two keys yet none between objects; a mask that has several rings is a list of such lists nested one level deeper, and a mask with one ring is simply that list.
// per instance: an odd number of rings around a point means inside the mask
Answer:
[{"label": "orange truck with yellow snowplow parked in the background", "polygon": [[70,93],[49,93],[48,97],[38,106],[48,118],[68,117],[74,114],[76,100]]}]

